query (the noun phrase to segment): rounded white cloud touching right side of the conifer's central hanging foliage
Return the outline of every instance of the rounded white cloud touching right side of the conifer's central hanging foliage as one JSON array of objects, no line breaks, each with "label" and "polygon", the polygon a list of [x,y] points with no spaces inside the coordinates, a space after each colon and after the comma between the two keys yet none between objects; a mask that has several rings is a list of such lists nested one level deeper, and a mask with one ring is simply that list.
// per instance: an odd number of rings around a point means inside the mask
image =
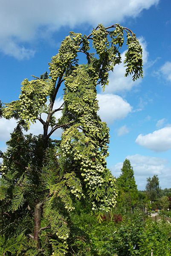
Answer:
[{"label": "rounded white cloud touching right side of the conifer's central hanging foliage", "polygon": [[102,121],[112,123],[116,119],[125,118],[132,110],[130,104],[122,97],[114,94],[97,94],[99,115]]}]

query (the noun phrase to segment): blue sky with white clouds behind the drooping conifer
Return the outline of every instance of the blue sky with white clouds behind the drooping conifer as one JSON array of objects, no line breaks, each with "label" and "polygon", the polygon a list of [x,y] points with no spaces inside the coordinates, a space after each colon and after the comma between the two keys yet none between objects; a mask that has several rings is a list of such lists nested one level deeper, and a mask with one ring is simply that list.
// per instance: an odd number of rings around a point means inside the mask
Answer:
[{"label": "blue sky with white clouds behind the drooping conifer", "polygon": [[[170,188],[171,1],[106,0],[104,5],[103,0],[0,0],[0,6],[4,103],[17,100],[24,78],[48,71],[48,62],[70,30],[88,35],[99,23],[120,23],[136,33],[143,47],[144,78],[132,82],[119,65],[106,90],[98,88],[99,115],[110,127],[108,167],[118,177],[128,158],[139,189],[145,189],[147,177],[154,174],[162,188]],[[60,103],[59,95],[55,104]],[[0,119],[1,150],[14,126],[14,120]],[[35,134],[41,131],[40,124],[31,127]]]}]

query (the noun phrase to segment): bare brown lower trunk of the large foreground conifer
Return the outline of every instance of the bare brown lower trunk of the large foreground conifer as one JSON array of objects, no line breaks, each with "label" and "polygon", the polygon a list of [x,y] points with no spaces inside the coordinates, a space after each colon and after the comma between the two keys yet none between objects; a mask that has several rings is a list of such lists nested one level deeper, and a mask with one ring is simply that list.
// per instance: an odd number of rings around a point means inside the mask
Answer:
[{"label": "bare brown lower trunk of the large foreground conifer", "polygon": [[38,249],[41,249],[41,242],[39,238],[41,229],[41,203],[35,205],[35,215],[34,215],[34,240],[37,241]]}]

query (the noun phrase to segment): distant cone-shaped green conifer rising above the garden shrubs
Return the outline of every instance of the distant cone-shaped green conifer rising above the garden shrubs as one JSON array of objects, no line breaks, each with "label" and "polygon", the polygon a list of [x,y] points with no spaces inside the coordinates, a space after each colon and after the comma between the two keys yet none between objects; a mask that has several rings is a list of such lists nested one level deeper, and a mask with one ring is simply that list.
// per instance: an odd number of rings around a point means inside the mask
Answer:
[{"label": "distant cone-shaped green conifer rising above the garden shrubs", "polygon": [[119,189],[119,205],[126,210],[134,208],[138,201],[138,190],[134,179],[133,168],[130,160],[125,159],[121,169],[121,175],[117,178]]}]

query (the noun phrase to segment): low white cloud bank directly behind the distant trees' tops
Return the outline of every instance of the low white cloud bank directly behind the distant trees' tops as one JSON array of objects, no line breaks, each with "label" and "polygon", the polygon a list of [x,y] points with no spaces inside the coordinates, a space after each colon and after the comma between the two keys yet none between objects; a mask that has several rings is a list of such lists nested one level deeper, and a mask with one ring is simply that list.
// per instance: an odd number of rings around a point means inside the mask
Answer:
[{"label": "low white cloud bank directly behind the distant trees' tops", "polygon": [[[154,175],[158,175],[162,188],[170,188],[171,167],[167,167],[168,160],[139,154],[126,156],[126,158],[130,160],[130,164],[133,167],[138,189],[144,190],[147,178],[153,177]],[[123,162],[119,162],[111,167],[113,175],[119,177],[122,165]]]}]

